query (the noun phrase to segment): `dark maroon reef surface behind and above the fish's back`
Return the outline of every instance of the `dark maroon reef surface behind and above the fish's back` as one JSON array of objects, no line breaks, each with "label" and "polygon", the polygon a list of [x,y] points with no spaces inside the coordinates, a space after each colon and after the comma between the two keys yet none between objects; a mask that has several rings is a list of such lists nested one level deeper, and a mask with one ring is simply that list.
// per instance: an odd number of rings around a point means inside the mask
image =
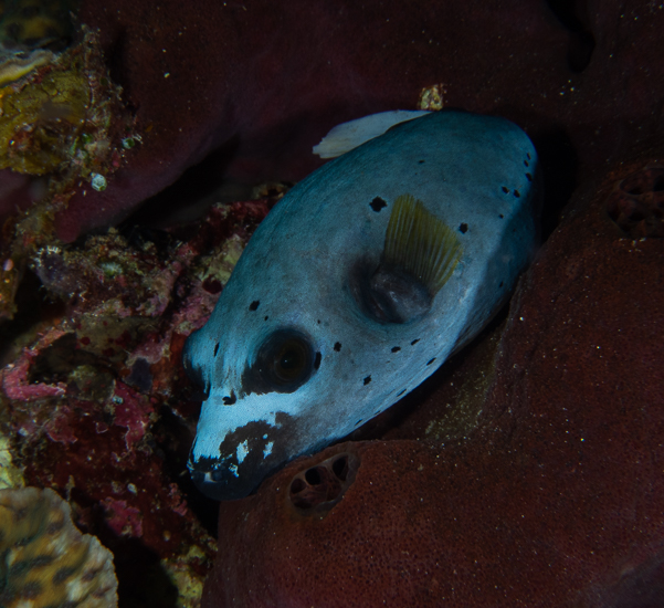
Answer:
[{"label": "dark maroon reef surface behind and above the fish's back", "polygon": [[208,167],[220,178],[296,181],[319,166],[310,149],[333,126],[415,108],[434,86],[436,107],[524,127],[556,170],[563,166],[563,184],[662,133],[653,112],[664,82],[654,59],[658,4],[513,0],[485,9],[253,0],[196,10],[167,1],[152,11],[84,1],[80,18],[101,30],[143,145],[104,192],[74,196],[59,235],[117,221],[213,150]]}]

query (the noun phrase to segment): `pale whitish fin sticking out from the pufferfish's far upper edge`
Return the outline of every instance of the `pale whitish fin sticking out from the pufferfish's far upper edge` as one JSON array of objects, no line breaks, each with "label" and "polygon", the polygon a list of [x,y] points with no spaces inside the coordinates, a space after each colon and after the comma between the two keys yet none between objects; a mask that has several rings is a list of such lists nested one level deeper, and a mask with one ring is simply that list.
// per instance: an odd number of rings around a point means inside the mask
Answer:
[{"label": "pale whitish fin sticking out from the pufferfish's far upper edge", "polygon": [[313,153],[320,158],[341,156],[369,141],[369,139],[382,135],[394,125],[419,118],[425,114],[431,113],[424,109],[393,109],[341,123],[320,139],[317,146],[314,146]]}]

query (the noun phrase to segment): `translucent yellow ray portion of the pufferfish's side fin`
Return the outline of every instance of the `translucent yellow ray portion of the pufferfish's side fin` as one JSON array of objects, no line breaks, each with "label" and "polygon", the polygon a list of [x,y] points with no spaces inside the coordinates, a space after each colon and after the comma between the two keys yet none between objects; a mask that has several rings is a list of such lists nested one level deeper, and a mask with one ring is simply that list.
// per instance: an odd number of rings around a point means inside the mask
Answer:
[{"label": "translucent yellow ray portion of the pufferfish's side fin", "polygon": [[421,200],[401,195],[394,201],[384,240],[383,262],[400,266],[435,295],[463,253],[454,231]]}]

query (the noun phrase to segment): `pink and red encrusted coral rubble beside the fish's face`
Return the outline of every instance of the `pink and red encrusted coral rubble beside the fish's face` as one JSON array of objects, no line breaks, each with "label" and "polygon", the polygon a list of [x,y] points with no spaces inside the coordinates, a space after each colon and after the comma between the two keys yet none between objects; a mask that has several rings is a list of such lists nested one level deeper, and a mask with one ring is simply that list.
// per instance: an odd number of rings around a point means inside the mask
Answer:
[{"label": "pink and red encrusted coral rubble beside the fish's face", "polygon": [[[194,230],[110,229],[32,258],[60,313],[22,335],[0,370],[4,473],[19,465],[28,483],[66,492],[136,605],[171,602],[179,586],[181,606],[200,596],[214,544],[185,497],[197,403],[181,349],[273,203],[215,206]],[[149,585],[170,596],[148,601]]]}]

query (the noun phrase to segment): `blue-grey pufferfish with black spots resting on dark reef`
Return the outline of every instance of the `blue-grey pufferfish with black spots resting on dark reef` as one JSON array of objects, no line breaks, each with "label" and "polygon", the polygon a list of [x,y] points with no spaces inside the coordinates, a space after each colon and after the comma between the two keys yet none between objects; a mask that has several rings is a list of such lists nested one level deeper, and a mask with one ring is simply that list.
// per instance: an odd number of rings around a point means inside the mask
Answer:
[{"label": "blue-grey pufferfish with black spots resting on dark reef", "polygon": [[539,181],[515,124],[443,111],[297,184],[186,344],[207,394],[188,463],[197,485],[250,494],[473,339],[536,248]]}]

